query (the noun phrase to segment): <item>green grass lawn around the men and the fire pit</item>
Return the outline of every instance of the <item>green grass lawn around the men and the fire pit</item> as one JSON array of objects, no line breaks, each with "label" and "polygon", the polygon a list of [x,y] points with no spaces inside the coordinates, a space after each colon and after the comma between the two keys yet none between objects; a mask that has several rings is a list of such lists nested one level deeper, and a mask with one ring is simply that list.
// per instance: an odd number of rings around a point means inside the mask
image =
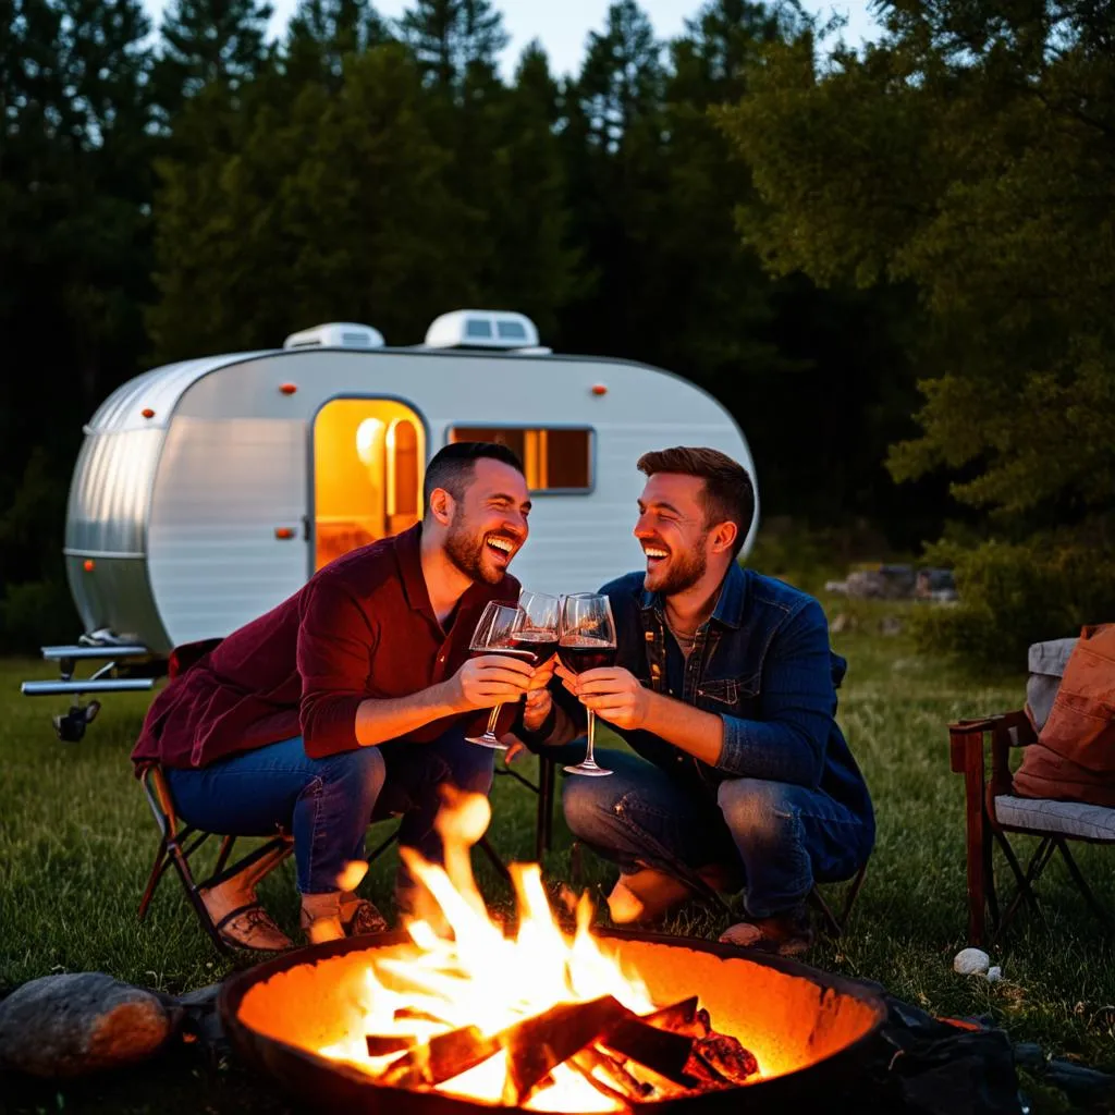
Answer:
[{"label": "green grass lawn around the men and the fire pit", "polygon": [[[1059,863],[1040,890],[1046,922],[1020,920],[995,951],[1002,982],[952,972],[967,925],[963,791],[960,776],[949,772],[944,726],[959,716],[1019,707],[1024,676],[972,680],[919,657],[904,634],[880,633],[883,614],[901,617],[902,605],[827,603],[830,615],[846,611],[855,620],[834,637],[850,662],[840,717],[875,799],[879,842],[849,933],[817,946],[807,961],[878,980],[937,1014],[991,1015],[1016,1040],[1115,1069],[1115,942]],[[18,688],[21,679],[51,676],[41,662],[0,661],[0,991],[61,971],[100,970],[172,992],[219,980],[229,964],[211,950],[173,876],[147,922],[135,920],[155,827],[127,756],[147,697],[108,697],[85,740],[61,744],[49,714],[65,701],[31,700]],[[525,773],[532,774],[531,765]],[[527,857],[534,796],[501,778],[493,806],[496,847],[507,857]],[[555,843],[545,869],[568,878],[570,837],[560,816]],[[1096,893],[1112,902],[1112,850],[1080,846],[1078,861]],[[394,862],[392,852],[362,885],[385,909]],[[598,862],[589,870],[594,882],[609,878]],[[494,902],[506,901],[486,863],[478,864],[478,876]],[[262,896],[297,933],[290,864],[264,883]],[[695,905],[668,930],[714,935],[723,928]],[[6,1103],[10,1109],[165,1111],[166,1075],[163,1063],[64,1092],[20,1088],[7,1101],[0,1094],[0,1111]],[[234,1067],[211,1072],[190,1061],[181,1076],[174,1109],[282,1108],[279,1097]]]}]

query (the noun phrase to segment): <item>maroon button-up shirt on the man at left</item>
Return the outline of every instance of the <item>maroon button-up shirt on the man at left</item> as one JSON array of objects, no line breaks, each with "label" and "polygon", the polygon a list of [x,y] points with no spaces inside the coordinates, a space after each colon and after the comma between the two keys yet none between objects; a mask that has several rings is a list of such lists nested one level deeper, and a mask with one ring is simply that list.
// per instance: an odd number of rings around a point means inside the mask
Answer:
[{"label": "maroon button-up shirt on the man at left", "polygon": [[[489,600],[518,599],[518,582],[474,584],[448,632],[421,572],[421,524],[345,554],[265,615],[233,631],[172,679],[147,711],[132,758],[203,767],[301,735],[313,758],[357,746],[356,711],[369,697],[407,697],[452,677]],[[515,707],[505,706],[501,728]],[[405,739],[428,743],[468,717],[433,720]]]}]

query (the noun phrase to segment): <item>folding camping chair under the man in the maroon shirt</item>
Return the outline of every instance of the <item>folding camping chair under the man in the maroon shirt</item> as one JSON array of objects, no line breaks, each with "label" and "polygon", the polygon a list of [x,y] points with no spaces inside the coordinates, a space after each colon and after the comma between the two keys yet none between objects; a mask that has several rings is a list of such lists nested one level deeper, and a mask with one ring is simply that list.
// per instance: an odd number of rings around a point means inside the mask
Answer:
[{"label": "folding camping chair under the man in the maroon shirt", "polygon": [[[147,795],[147,803],[154,814],[155,824],[158,826],[159,842],[155,852],[154,865],[147,878],[147,885],[144,888],[143,898],[139,900],[138,920],[143,921],[146,917],[151,900],[154,898],[158,884],[162,882],[167,869],[173,865],[186,892],[186,898],[202,924],[202,929],[205,930],[205,933],[217,951],[230,953],[232,951],[231,947],[221,938],[216,925],[213,923],[213,919],[210,917],[209,910],[205,909],[205,903],[201,896],[202,890],[207,890],[226,879],[231,879],[245,867],[258,863],[266,856],[275,856],[274,866],[278,866],[293,852],[293,837],[290,833],[280,828],[264,844],[253,849],[248,855],[235,863],[230,863],[232,849],[237,837],[202,832],[193,825],[184,825],[177,817],[174,798],[171,796],[171,787],[167,785],[163,768],[157,763],[144,764],[139,768],[139,780],[144,793]],[[202,882],[196,882],[190,865],[190,859],[211,836],[217,835],[221,836],[221,847],[217,852],[213,872]],[[375,860],[379,859],[398,840],[398,835],[399,831],[398,826],[396,826],[395,831],[371,852],[368,856],[368,863],[371,864]],[[500,854],[492,846],[487,836],[481,837],[479,849],[487,856],[500,876],[510,883],[511,872],[503,860],[500,859]]]}]

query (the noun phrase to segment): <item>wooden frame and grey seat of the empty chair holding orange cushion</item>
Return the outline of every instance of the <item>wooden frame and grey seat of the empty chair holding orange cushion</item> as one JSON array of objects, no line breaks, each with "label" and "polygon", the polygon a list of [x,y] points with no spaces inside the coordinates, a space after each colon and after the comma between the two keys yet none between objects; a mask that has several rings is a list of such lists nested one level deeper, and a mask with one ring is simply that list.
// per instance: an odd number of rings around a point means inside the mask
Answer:
[{"label": "wooden frame and grey seat of the empty chair holding orange cushion", "polygon": [[[990,778],[987,777],[985,762],[985,737],[988,735],[991,737]],[[1056,852],[1060,853],[1088,908],[1115,930],[1115,922],[1096,900],[1068,847],[1068,841],[1115,844],[1115,809],[1080,802],[1018,797],[1014,793],[1010,775],[1010,750],[1036,740],[1037,734],[1024,711],[949,725],[951,768],[964,776],[968,940],[971,944],[983,944],[988,913],[993,929],[992,943],[1007,930],[1024,902],[1040,913],[1034,884]],[[1038,837],[1038,845],[1025,870],[1007,838],[1008,833]],[[1017,884],[1016,893],[1001,918],[995,885],[996,845]]]}]

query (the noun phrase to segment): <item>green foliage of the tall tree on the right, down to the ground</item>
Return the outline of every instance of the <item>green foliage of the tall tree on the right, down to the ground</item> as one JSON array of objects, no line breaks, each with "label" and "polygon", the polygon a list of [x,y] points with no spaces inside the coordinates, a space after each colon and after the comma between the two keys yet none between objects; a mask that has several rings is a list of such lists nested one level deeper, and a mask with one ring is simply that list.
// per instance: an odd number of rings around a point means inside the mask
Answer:
[{"label": "green foliage of the tall tree on the right, down to the ground", "polygon": [[1112,601],[1106,574],[1077,573],[1086,543],[1043,537],[1098,533],[1115,485],[1115,9],[878,8],[879,45],[818,59],[812,32],[776,40],[719,114],[754,178],[740,227],[775,274],[917,292],[920,430],[894,437],[891,475],[944,473],[1037,555],[958,554],[968,598],[925,637],[1017,652]]}]

